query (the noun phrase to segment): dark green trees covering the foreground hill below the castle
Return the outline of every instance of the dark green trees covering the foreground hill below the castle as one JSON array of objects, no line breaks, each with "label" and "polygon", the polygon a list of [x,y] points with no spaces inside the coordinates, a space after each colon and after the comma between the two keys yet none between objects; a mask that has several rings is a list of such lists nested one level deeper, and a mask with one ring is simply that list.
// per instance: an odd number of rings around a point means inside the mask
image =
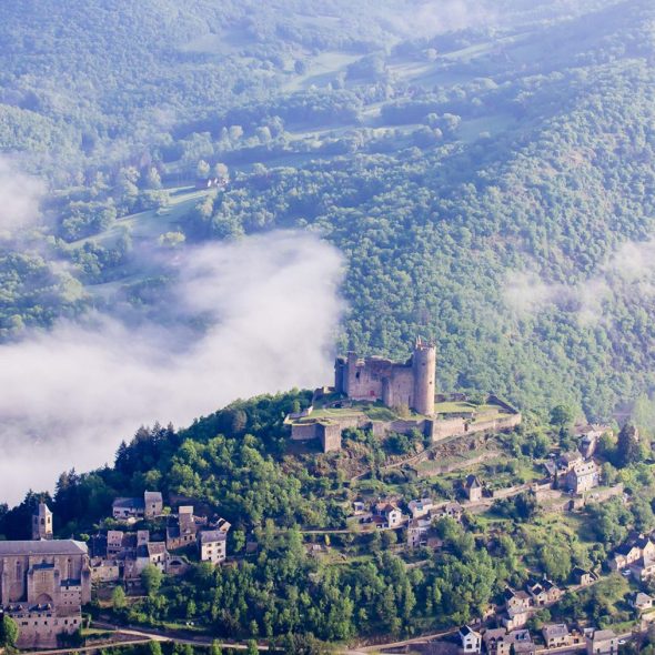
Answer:
[{"label": "dark green trees covering the foreground hill below the castle", "polygon": [[[410,636],[465,623],[483,615],[490,602],[498,602],[505,585],[520,587],[540,575],[566,585],[575,566],[604,577],[542,611],[531,626],[551,617],[587,618],[601,626],[633,617],[625,602],[628,584],[616,573],[607,575],[606,562],[632,530],[655,528],[653,460],[634,431],[605,435],[598,450],[604,481],[624,485],[628,504],[613,498],[590,503],[582,514],[563,514],[522,493],[495,502],[483,514],[466,513],[461,522],[439,520],[441,546],[435,551],[407,550],[404,531],[352,528],[352,500],[425,493],[455,500],[461,473],[435,481],[385,473],[381,464],[396,453],[397,435],[377,440],[350,431],[340,453],[299,452],[282,421],[309,400],[305,392],[259,396],[184,430],[141,429],[121,444],[112,466],[66,472],[52,496],[30,492],[12,510],[0,505],[0,536],[27,537],[31,513],[42,500],[53,510],[58,536],[88,541],[95,531],[127,527],[110,517],[117,495],[159,488],[167,498],[191,497],[232,523],[233,564],[213,567],[188,552],[192,564],[184,577],[143,575],[145,594],[127,598],[119,585],[109,604],[97,598],[89,611],[111,611],[113,621],[132,625],[165,627],[191,619],[202,634],[266,639],[286,653],[322,653],[325,643]],[[550,423],[530,421],[513,433],[491,437],[502,453],[481,474],[510,484],[541,475],[540,462],[553,449],[576,447],[572,416],[558,407]],[[421,439],[411,436],[409,446],[423,447]],[[371,471],[359,481],[349,480],[347,465],[357,453],[364,454]],[[165,515],[131,527],[155,535],[162,525]],[[344,530],[347,525],[351,531]],[[326,534],[311,532],[321,528]],[[248,550],[246,542],[256,550]],[[310,546],[322,543],[334,555],[312,556]]]}]

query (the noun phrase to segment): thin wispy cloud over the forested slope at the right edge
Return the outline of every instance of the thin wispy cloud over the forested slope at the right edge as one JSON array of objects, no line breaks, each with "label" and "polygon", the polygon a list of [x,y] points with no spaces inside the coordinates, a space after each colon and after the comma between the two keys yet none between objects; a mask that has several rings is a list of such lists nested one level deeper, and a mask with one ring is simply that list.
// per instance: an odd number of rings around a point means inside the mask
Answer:
[{"label": "thin wispy cloud over the forested slope at the right edge", "polygon": [[595,275],[576,284],[510,271],[503,292],[505,304],[521,318],[557,308],[574,313],[582,325],[598,323],[604,303],[616,295],[655,296],[655,239],[624,243]]}]

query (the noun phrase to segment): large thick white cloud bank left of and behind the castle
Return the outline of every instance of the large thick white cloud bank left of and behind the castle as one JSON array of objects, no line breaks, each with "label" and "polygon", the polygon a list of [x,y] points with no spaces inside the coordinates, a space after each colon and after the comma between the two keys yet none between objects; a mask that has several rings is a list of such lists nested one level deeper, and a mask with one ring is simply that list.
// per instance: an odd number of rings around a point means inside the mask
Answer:
[{"label": "large thick white cloud bank left of and behind the castle", "polygon": [[92,314],[0,346],[0,501],[111,462],[141,424],[331,379],[335,249],[281,232],[188,249],[174,269],[157,321]]}]

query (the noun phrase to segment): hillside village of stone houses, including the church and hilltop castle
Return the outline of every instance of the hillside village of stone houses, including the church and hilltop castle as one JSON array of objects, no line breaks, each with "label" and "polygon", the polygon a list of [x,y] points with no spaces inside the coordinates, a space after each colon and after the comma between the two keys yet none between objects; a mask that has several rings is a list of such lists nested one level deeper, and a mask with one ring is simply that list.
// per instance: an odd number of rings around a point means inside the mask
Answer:
[{"label": "hillside village of stone houses, including the church and hilltop castle", "polygon": [[[311,415],[305,410],[285,421],[289,443],[293,446],[298,441],[319,439],[325,456],[334,456],[334,451],[339,453],[347,447],[349,430],[362,429],[360,417],[346,420],[351,416],[353,403],[367,403],[369,410],[380,401],[385,407],[395,407],[397,401],[415,412],[419,396],[423,397],[423,405],[417,417],[405,419],[402,425],[395,420],[383,422],[384,427],[379,434],[384,439],[400,425],[407,434],[419,433],[424,437],[424,451],[420,456],[410,455],[391,464],[394,474],[403,466],[413,466],[413,471],[420,473],[420,466],[430,461],[427,455],[436,457],[443,466],[447,460],[443,449],[458,447],[464,443],[466,450],[477,453],[486,447],[485,435],[511,435],[521,423],[521,414],[495,396],[477,405],[470,403],[464,394],[447,400],[435,396],[430,383],[434,375],[433,350],[431,344],[417,342],[415,355],[423,353],[421,357],[401,365],[380,359],[363,362],[355,356],[337,360],[335,387],[314,392],[312,406],[325,393],[340,400],[330,401],[334,403],[331,414],[312,419],[309,424],[335,425],[336,429],[331,432],[328,427],[322,435],[314,433],[313,427],[305,430],[303,426],[308,424],[303,419]],[[417,366],[416,361],[421,365]],[[362,382],[366,376],[370,380]],[[424,387],[427,387],[426,392]],[[460,415],[440,417],[436,411],[440,402],[442,407],[447,405],[452,413],[458,411]],[[362,415],[366,410],[362,410]],[[491,421],[487,416],[476,426],[471,414],[475,411],[495,414]],[[440,432],[440,422],[447,423],[445,431]],[[419,431],[417,425],[423,430]],[[367,429],[375,432],[371,425]],[[421,567],[434,553],[446,547],[443,533],[449,522],[475,534],[475,521],[480,520],[476,517],[493,515],[498,503],[512,498],[527,497],[536,507],[562,516],[574,516],[590,503],[608,498],[626,503],[628,495],[624,485],[604,484],[603,468],[596,458],[598,444],[609,432],[612,429],[607,425],[576,425],[572,431],[575,449],[553,451],[541,460],[535,458],[533,474],[526,481],[504,486],[494,484],[495,481],[490,478],[493,476],[485,476],[485,471],[487,475],[491,471],[487,461],[463,456],[461,462],[440,470],[442,473],[437,475],[440,480],[447,477],[452,485],[453,493],[446,498],[429,492],[429,474],[423,484],[429,493],[421,496],[393,493],[393,485],[371,485],[369,482],[372,481],[367,482],[365,474],[359,474],[350,481],[344,495],[346,516],[343,527],[315,530],[311,525],[299,526],[305,553],[325,564],[344,562],[351,556],[351,550],[343,547],[340,537],[364,538],[369,540],[367,544],[372,543],[370,537],[375,537],[385,548],[401,554],[407,566]],[[385,491],[381,493],[381,488]],[[164,498],[160,491],[145,490],[138,497],[115,497],[111,515],[101,522],[95,533],[84,535],[83,541],[56,540],[53,524],[57,517],[46,503],[39,503],[32,516],[32,540],[0,542],[0,606],[19,627],[17,646],[42,649],[66,645],[88,624],[82,614],[84,605],[94,599],[111,611],[112,593],[118,587],[124,590],[128,597],[139,597],[149,572],[153,570],[177,577],[184,576],[194,563],[239,566],[243,560],[255,556],[259,548],[255,531],[245,535],[245,547],[230,552],[231,522],[239,521],[239,517],[229,518],[220,515],[219,507],[208,506],[202,501],[179,495]],[[487,538],[490,542],[485,547],[493,553],[493,531]],[[506,587],[502,598],[490,605],[475,623],[451,631],[445,641],[430,641],[432,649],[425,652],[449,653],[454,648],[453,653],[474,655],[482,652],[487,655],[532,655],[586,651],[588,655],[615,655],[632,633],[615,633],[573,621],[540,622],[535,629],[537,624],[534,621],[543,609],[556,605],[566,595],[593,587],[608,575],[629,581],[633,590],[629,606],[637,619],[635,625],[645,629],[655,621],[654,601],[648,593],[649,582],[655,580],[655,535],[633,534],[602,566],[575,566],[565,583],[555,583],[538,568],[530,571],[530,578],[523,587]],[[455,635],[458,645],[453,641]]]}]

